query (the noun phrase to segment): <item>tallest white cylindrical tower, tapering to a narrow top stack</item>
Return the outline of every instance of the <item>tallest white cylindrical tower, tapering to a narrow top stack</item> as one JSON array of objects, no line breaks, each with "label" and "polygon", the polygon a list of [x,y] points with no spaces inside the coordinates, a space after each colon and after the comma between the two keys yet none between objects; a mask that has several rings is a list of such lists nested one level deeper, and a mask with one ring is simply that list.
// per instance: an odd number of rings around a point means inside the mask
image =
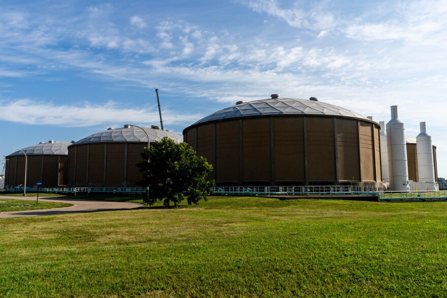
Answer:
[{"label": "tallest white cylindrical tower, tapering to a narrow top stack", "polygon": [[397,106],[391,106],[391,120],[387,123],[388,171],[390,188],[408,190],[408,162],[405,125],[397,118]]}]

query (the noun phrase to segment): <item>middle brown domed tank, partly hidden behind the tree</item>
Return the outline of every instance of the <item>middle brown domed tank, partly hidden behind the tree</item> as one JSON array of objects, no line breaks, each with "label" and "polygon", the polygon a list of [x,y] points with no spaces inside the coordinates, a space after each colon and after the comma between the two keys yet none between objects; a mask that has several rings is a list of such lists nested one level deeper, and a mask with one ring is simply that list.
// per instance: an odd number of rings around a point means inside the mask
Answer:
[{"label": "middle brown domed tank, partly hidden behind the tree", "polygon": [[109,128],[69,146],[71,187],[135,186],[143,178],[136,164],[149,142],[168,137],[177,143],[183,138],[158,126]]}]

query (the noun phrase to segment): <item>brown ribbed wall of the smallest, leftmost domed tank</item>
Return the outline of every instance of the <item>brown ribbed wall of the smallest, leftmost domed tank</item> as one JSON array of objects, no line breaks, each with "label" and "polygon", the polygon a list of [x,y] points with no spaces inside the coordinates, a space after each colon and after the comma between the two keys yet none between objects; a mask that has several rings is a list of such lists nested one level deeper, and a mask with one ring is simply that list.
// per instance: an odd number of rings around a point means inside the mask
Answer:
[{"label": "brown ribbed wall of the smallest, leftmost domed tank", "polygon": [[[26,186],[42,182],[42,187],[67,185],[67,155],[28,155]],[[25,183],[25,156],[9,156],[6,161],[5,186],[14,187]]]}]

